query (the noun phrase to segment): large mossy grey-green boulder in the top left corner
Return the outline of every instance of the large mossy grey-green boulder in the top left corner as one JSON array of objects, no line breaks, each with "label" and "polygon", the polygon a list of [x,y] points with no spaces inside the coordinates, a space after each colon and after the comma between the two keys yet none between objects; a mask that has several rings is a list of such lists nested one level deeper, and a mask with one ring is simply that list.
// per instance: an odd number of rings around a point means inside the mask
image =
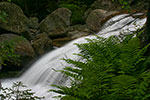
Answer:
[{"label": "large mossy grey-green boulder in the top left corner", "polygon": [[0,2],[0,31],[21,34],[28,29],[30,23],[22,9],[13,3]]}]

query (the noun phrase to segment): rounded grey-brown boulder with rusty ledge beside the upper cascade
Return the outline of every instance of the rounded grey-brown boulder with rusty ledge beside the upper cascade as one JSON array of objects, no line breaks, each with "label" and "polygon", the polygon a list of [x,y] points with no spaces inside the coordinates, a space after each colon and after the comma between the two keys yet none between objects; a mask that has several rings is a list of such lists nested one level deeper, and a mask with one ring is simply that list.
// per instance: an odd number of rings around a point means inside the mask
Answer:
[{"label": "rounded grey-brown boulder with rusty ledge beside the upper cascade", "polygon": [[106,11],[102,9],[95,9],[93,10],[89,16],[87,17],[86,24],[89,29],[94,32],[98,32],[104,23],[103,20],[106,20],[106,17],[114,15],[118,13],[117,11]]}]

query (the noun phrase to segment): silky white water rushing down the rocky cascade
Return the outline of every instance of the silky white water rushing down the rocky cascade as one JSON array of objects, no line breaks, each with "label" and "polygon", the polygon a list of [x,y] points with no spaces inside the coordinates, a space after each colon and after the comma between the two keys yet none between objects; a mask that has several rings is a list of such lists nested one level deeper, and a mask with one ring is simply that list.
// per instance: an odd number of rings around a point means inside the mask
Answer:
[{"label": "silky white water rushing down the rocky cascade", "polygon": [[[107,38],[112,35],[119,35],[120,32],[124,34],[130,33],[142,27],[145,21],[146,19],[134,19],[128,14],[118,15],[107,21],[98,35]],[[62,58],[78,59],[77,56],[73,55],[73,53],[79,52],[74,43],[85,43],[85,38],[94,37],[86,36],[76,39],[61,48],[47,53],[36,61],[22,76],[17,79],[3,80],[2,85],[8,87],[14,81],[22,81],[29,88],[32,88],[38,96],[45,96],[45,100],[55,100],[52,97],[57,94],[47,92],[53,88],[50,85],[69,85],[69,81],[61,73],[55,72],[54,69],[60,70],[67,65],[61,60]]]}]

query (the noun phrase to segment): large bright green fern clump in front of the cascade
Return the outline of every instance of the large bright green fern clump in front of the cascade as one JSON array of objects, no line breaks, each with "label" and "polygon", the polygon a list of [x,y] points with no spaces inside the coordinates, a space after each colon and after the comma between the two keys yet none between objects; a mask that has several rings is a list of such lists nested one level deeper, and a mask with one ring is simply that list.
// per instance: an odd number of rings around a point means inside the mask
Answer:
[{"label": "large bright green fern clump in front of the cascade", "polygon": [[[140,48],[140,41],[128,35],[87,39],[76,44],[82,59],[64,59],[71,66],[61,72],[71,80],[71,86],[55,86],[50,90],[63,94],[63,100],[149,100],[149,57],[143,56],[150,44]],[[69,99],[68,99],[69,98]]]}]

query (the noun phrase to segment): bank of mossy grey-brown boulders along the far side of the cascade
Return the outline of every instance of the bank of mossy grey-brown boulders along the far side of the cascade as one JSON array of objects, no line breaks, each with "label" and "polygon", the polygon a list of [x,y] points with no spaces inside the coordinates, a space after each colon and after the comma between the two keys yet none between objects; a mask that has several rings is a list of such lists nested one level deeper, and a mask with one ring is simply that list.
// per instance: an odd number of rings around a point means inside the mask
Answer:
[{"label": "bank of mossy grey-brown boulders along the far side of the cascade", "polygon": [[39,22],[36,17],[26,17],[16,4],[0,2],[3,16],[0,18],[0,42],[18,39],[15,51],[23,67],[55,46],[61,47],[73,39],[97,33],[108,19],[121,13],[127,12],[122,11],[120,5],[110,0],[96,0],[83,16],[85,24],[72,25],[72,11],[68,8],[58,8]]}]

